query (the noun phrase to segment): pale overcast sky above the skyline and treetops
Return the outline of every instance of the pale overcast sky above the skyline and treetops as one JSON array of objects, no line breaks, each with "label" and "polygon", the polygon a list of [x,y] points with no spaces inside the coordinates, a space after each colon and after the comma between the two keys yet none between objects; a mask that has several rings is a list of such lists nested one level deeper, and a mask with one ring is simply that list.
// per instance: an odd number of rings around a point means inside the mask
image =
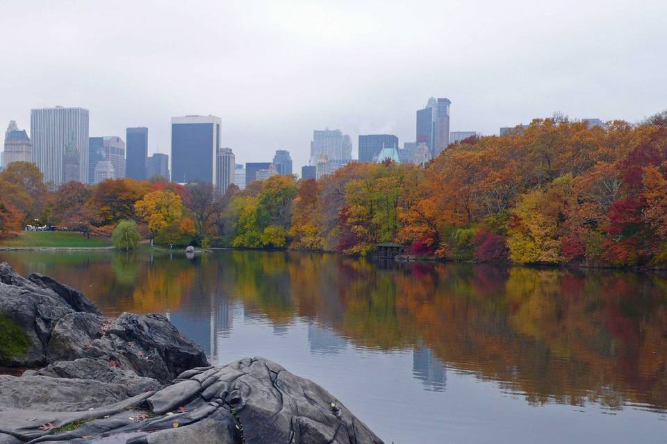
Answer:
[{"label": "pale overcast sky above the skyline and treetops", "polygon": [[415,110],[498,132],[554,111],[638,121],[667,108],[667,1],[4,1],[0,124],[90,110],[90,135],[215,114],[237,162],[308,160],[313,129],[415,139]]}]

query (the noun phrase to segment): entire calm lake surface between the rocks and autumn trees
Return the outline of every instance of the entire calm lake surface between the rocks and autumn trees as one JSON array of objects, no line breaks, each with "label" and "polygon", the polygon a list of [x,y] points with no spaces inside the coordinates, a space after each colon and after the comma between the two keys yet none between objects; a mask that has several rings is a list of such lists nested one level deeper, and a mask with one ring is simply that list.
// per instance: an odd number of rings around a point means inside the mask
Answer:
[{"label": "entire calm lake surface between the rocks and autumn trees", "polygon": [[666,443],[667,274],[337,255],[0,252],[224,364],[315,380],[387,443]]}]

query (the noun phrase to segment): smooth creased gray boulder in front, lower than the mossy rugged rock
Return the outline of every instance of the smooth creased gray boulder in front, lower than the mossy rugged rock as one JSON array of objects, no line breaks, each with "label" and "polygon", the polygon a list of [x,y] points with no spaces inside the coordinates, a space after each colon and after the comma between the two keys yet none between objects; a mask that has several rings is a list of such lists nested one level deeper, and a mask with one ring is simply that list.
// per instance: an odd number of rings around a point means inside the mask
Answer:
[{"label": "smooth creased gray boulder in front, lower than the mossy rugged rock", "polygon": [[[11,391],[42,384],[39,377],[3,378]],[[77,379],[53,381],[70,386],[48,400],[0,395],[0,436],[79,444],[382,442],[324,388],[263,358],[187,370],[171,386],[120,401],[122,393],[110,384],[96,389],[79,386]],[[69,388],[83,391],[81,401]],[[94,395],[110,403],[101,405]]]}]

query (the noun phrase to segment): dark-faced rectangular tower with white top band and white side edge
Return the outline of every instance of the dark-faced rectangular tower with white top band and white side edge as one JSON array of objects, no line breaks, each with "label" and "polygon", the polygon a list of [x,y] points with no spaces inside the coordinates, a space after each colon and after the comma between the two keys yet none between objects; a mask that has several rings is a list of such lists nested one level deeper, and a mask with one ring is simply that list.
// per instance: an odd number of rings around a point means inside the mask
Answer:
[{"label": "dark-faced rectangular tower with white top band and white side edge", "polygon": [[217,185],[220,117],[172,117],[172,180]]}]

